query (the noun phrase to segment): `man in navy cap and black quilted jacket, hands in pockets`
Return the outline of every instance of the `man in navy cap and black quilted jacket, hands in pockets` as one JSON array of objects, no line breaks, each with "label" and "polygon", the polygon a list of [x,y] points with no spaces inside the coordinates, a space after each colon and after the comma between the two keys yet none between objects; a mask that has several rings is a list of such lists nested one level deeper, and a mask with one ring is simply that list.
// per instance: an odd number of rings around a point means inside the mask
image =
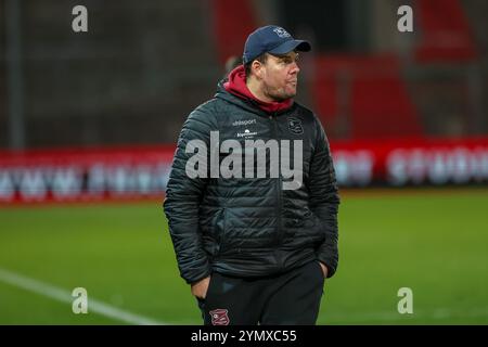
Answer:
[{"label": "man in navy cap and black quilted jacket, hands in pockets", "polygon": [[258,28],[243,65],[181,130],[164,207],[205,324],[314,324],[336,271],[329,142],[293,100],[309,50],[281,27]]}]

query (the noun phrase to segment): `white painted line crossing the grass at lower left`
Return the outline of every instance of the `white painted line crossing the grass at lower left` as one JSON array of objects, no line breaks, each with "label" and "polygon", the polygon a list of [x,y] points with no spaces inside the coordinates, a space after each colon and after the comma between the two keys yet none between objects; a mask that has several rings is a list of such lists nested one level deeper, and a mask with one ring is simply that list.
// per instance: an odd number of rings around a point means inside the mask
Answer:
[{"label": "white painted line crossing the grass at lower left", "polygon": [[[1,268],[0,282],[8,283],[28,292],[37,293],[62,303],[73,304],[73,300],[75,299],[75,297],[73,297],[72,293],[69,293],[68,291],[55,287],[51,284],[39,282],[34,279],[26,278],[24,275]],[[114,306],[107,305],[90,297],[88,297],[88,309],[89,311],[97,312],[99,314],[113,318],[117,321],[123,321],[129,324],[166,325],[166,323],[164,322],[158,322],[150,318],[124,311]]]}]

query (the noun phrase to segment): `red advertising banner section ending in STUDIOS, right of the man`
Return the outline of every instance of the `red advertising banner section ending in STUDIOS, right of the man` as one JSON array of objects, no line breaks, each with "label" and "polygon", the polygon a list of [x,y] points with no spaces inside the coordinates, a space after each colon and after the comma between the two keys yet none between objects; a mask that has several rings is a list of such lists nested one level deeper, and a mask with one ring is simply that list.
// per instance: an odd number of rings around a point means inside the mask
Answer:
[{"label": "red advertising banner section ending in STUDIOS, right of the man", "polygon": [[331,144],[341,187],[488,182],[488,139],[410,139]]}]

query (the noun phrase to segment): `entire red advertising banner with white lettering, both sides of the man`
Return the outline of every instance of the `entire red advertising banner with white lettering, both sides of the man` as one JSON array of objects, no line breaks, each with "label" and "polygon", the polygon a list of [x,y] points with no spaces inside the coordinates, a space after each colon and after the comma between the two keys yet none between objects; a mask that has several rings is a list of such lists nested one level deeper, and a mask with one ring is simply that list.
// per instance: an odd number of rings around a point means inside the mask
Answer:
[{"label": "entire red advertising banner with white lettering, both sides of the man", "polygon": [[[339,187],[488,182],[488,139],[333,142]],[[175,146],[0,152],[0,205],[162,198]]]}]

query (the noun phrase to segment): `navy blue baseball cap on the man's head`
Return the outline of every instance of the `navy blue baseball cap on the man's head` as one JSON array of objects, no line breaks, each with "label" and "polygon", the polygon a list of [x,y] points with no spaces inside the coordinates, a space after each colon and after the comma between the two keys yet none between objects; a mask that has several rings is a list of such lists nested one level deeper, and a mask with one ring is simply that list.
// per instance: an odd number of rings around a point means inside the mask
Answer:
[{"label": "navy blue baseball cap on the man's head", "polygon": [[286,54],[293,50],[308,52],[311,46],[308,41],[295,40],[282,27],[268,25],[256,29],[247,37],[242,61],[247,64],[264,53]]}]

